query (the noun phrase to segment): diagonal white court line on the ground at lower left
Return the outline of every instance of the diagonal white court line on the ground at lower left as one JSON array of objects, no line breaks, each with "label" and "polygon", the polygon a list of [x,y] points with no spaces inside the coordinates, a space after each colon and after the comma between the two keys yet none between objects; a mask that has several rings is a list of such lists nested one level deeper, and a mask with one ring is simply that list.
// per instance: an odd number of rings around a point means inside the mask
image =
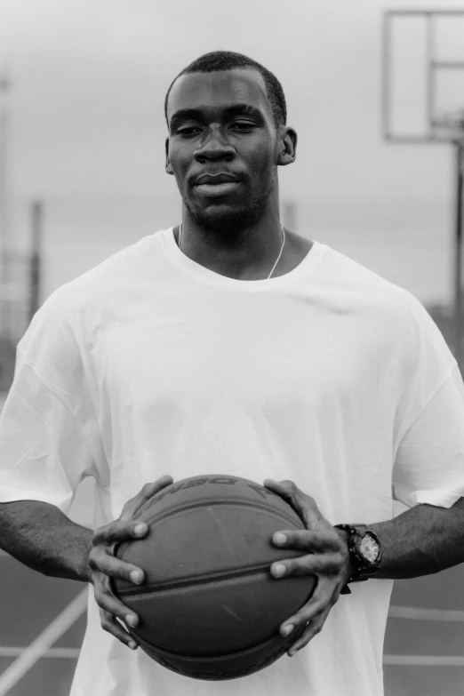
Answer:
[{"label": "diagonal white court line on the ground at lower left", "polygon": [[49,650],[52,644],[56,643],[60,636],[66,633],[68,628],[76,623],[76,620],[82,616],[87,608],[88,592],[88,588],[82,590],[82,592],[80,592],[73,601],[52,620],[52,623],[21,652],[20,656],[5,669],[4,673],[0,675],[0,696],[6,696],[12,687],[18,684],[28,670],[36,664],[36,661],[44,657],[44,654]]}]

